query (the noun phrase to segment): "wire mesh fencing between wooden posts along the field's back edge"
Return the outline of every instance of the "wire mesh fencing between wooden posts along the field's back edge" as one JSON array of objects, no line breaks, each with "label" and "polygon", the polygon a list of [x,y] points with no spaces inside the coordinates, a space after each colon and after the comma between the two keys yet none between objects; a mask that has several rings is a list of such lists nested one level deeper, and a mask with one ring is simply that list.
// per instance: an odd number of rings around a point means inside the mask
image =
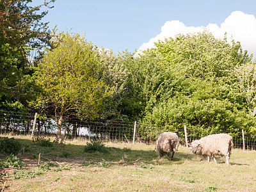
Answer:
[{"label": "wire mesh fencing between wooden posts along the field's back edge", "polygon": [[[29,135],[32,132],[35,114],[17,113],[13,111],[0,112],[0,134],[2,135]],[[180,144],[185,145],[184,127],[172,127],[172,125],[150,125],[143,122],[121,122],[116,120],[77,120],[66,119],[61,127],[61,134],[66,139],[79,138],[81,140],[107,140],[122,141],[132,140],[141,143],[153,144],[161,132],[176,132],[180,138]],[[135,132],[134,132],[135,129]],[[241,131],[214,131],[205,129],[189,129],[187,127],[188,141],[199,140],[203,136],[217,133],[227,133],[233,137],[235,148],[243,148],[243,136]],[[35,122],[35,136],[56,136],[58,126],[52,116],[37,118]],[[134,134],[135,133],[135,134]],[[244,134],[245,149],[255,150],[256,139],[250,134]]]}]

